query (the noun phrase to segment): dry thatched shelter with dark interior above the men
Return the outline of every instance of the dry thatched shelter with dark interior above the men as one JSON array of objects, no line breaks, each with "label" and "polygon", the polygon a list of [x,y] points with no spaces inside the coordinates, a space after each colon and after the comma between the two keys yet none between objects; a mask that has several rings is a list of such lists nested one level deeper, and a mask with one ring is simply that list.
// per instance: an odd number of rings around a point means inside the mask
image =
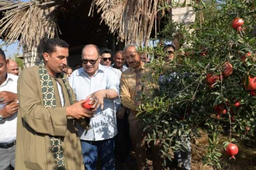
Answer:
[{"label": "dry thatched shelter with dark interior above the men", "polygon": [[[43,37],[60,37],[76,51],[86,43],[109,46],[116,40],[141,43],[150,38],[160,0],[0,0],[0,36],[19,40],[26,67],[37,64]],[[102,42],[100,42],[102,41]],[[100,44],[101,43],[101,44]],[[72,49],[73,48],[73,49]]]}]

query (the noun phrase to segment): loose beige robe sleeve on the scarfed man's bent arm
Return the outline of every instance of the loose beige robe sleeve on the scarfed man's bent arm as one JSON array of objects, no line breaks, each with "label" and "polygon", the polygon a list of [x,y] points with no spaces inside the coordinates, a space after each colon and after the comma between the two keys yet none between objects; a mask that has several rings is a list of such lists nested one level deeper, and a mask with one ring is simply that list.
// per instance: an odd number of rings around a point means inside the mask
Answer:
[{"label": "loose beige robe sleeve on the scarfed man's bent arm", "polygon": [[19,112],[22,119],[36,132],[65,136],[67,118],[65,107],[44,107],[39,99],[37,80],[31,70],[24,70],[18,79]]}]

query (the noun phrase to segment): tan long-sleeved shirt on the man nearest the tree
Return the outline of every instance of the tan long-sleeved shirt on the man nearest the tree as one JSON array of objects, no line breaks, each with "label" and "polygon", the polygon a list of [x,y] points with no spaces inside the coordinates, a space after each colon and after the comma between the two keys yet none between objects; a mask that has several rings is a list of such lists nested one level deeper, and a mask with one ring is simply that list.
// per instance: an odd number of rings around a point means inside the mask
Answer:
[{"label": "tan long-sleeved shirt on the man nearest the tree", "polygon": [[[147,97],[149,94],[149,83],[147,76],[149,74],[149,69],[145,69],[142,67],[140,71],[141,75],[141,86],[142,93],[144,93]],[[125,107],[131,109],[132,111],[136,111],[138,106],[135,104],[135,96],[136,96],[136,72],[132,68],[128,68],[121,75],[120,81],[120,97],[121,103]]]}]

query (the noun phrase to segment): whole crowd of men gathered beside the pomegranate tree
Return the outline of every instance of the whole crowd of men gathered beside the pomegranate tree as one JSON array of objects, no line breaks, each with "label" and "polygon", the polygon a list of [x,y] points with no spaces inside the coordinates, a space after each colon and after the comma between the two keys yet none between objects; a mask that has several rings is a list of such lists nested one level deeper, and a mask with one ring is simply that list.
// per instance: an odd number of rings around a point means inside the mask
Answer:
[{"label": "whole crowd of men gathered beside the pomegranate tree", "polygon": [[[102,170],[114,170],[116,153],[125,169],[130,148],[138,170],[145,170],[146,135],[136,114],[139,94],[150,95],[144,81],[148,56],[136,44],[113,58],[110,49],[89,44],[82,49],[82,67],[73,71],[68,43],[52,38],[42,46],[40,64],[20,75],[0,49],[0,170],[96,170],[98,160]],[[172,60],[175,47],[164,50],[170,54],[166,61]],[[91,109],[82,107],[87,99]],[[154,170],[164,169],[160,141],[150,148]],[[176,158],[190,170],[189,156]]]}]

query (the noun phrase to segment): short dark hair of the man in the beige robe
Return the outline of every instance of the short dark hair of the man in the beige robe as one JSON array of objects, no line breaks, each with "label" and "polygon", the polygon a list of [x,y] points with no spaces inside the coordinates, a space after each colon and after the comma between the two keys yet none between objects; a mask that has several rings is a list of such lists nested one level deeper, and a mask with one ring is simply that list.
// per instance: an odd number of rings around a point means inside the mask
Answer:
[{"label": "short dark hair of the man in the beige robe", "polygon": [[56,51],[56,46],[68,48],[69,44],[60,38],[42,38],[38,45],[38,53],[53,53]]}]

